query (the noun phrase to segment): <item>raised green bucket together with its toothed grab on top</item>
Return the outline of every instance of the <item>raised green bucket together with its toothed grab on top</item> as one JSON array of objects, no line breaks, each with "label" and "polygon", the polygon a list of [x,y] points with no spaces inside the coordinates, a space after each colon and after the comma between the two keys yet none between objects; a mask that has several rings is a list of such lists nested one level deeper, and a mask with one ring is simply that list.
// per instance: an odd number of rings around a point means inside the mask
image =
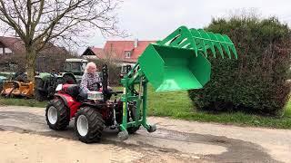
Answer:
[{"label": "raised green bucket together with its toothed grab on top", "polygon": [[229,58],[230,52],[237,58],[235,46],[226,35],[182,26],[165,40],[149,44],[138,63],[156,91],[201,89],[210,80],[207,52],[216,57],[217,50],[224,58],[223,49]]}]

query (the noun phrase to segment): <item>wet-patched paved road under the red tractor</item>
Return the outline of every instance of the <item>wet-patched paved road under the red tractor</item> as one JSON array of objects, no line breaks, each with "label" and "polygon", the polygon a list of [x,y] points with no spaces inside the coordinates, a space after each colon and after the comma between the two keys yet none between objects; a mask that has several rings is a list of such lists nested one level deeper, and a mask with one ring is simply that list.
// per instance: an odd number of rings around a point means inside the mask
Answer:
[{"label": "wet-patched paved road under the red tractor", "polygon": [[[48,129],[45,109],[0,106],[0,162],[291,162],[291,130],[241,128],[150,117],[125,141],[105,131],[101,143]],[[101,161],[102,160],[102,161]]]}]

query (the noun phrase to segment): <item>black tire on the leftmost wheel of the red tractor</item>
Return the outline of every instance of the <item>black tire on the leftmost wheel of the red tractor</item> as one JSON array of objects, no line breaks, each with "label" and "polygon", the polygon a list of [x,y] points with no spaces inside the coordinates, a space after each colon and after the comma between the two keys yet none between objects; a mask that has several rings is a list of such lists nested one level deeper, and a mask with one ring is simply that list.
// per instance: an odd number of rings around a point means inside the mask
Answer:
[{"label": "black tire on the leftmost wheel of the red tractor", "polygon": [[[57,119],[55,123],[52,123],[48,117],[49,110],[51,107],[55,108],[57,113]],[[64,130],[69,125],[70,114],[69,110],[65,107],[65,103],[63,100],[56,98],[52,101],[48,101],[45,110],[45,120],[50,129]]]}]

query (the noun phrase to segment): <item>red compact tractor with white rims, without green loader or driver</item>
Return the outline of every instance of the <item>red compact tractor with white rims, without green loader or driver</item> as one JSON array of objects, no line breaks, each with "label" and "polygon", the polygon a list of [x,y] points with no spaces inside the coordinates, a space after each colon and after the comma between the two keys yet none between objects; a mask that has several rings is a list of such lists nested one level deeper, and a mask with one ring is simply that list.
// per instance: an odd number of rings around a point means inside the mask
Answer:
[{"label": "red compact tractor with white rims, without green loader or driver", "polygon": [[[75,118],[75,133],[85,143],[96,142],[101,139],[105,127],[118,129],[123,120],[123,102],[116,100],[116,96],[123,91],[112,91],[107,86],[107,67],[103,67],[102,86],[97,83],[98,91],[89,94],[87,99],[79,96],[79,85],[59,85],[55,97],[49,101],[45,118],[50,129],[63,130],[70,120]],[[110,100],[115,96],[114,100]],[[135,103],[127,103],[127,120],[134,120]],[[135,133],[139,126],[128,128],[128,133]],[[127,139],[125,134],[118,135]],[[122,138],[125,137],[125,138]]]}]

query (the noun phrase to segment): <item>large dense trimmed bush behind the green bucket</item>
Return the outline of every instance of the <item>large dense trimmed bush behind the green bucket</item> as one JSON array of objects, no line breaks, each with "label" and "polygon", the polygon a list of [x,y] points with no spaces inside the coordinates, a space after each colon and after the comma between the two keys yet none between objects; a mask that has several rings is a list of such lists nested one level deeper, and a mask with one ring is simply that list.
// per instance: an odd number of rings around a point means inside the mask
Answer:
[{"label": "large dense trimmed bush behind the green bucket", "polygon": [[214,59],[211,80],[202,90],[188,91],[197,109],[250,110],[278,113],[283,110],[290,87],[291,34],[274,17],[218,19],[206,31],[227,34],[236,45],[238,60]]}]

